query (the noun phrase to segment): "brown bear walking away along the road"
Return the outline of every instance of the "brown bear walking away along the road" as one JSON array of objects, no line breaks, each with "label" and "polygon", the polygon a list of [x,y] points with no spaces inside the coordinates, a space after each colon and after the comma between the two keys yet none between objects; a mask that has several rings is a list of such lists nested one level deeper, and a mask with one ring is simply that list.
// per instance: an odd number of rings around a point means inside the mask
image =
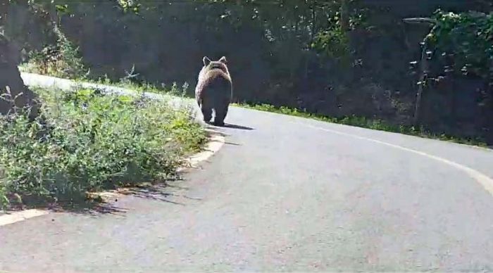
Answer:
[{"label": "brown bear walking away along the road", "polygon": [[233,94],[226,57],[223,56],[219,61],[211,61],[204,57],[202,61],[204,66],[200,70],[195,87],[195,99],[204,115],[204,122],[211,122],[214,110],[213,125],[223,126]]}]

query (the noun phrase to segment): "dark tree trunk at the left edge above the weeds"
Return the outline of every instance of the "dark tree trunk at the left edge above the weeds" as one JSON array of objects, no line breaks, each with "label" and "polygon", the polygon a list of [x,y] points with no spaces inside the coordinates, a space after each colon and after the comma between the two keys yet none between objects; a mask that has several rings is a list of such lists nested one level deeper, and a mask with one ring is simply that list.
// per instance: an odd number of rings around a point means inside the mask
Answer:
[{"label": "dark tree trunk at the left edge above the weeds", "polygon": [[39,113],[37,96],[28,89],[18,69],[19,49],[0,34],[0,114],[12,113],[17,108],[30,108],[30,118]]}]

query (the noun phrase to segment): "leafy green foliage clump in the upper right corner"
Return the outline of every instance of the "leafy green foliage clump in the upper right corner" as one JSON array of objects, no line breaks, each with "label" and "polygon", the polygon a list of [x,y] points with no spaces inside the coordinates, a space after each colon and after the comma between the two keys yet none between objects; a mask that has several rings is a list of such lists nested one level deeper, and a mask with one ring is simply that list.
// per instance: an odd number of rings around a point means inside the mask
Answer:
[{"label": "leafy green foliage clump in the upper right corner", "polygon": [[426,37],[435,58],[449,59],[444,72],[493,80],[493,13],[437,11]]}]

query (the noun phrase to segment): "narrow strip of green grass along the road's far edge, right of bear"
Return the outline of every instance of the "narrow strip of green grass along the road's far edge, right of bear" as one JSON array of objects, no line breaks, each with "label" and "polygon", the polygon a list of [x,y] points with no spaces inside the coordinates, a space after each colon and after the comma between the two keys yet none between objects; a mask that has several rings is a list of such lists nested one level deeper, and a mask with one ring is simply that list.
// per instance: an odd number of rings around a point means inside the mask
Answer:
[{"label": "narrow strip of green grass along the road's far edge, right of bear", "polygon": [[442,141],[451,141],[459,144],[468,144],[472,146],[487,147],[485,141],[481,139],[461,139],[454,136],[447,136],[445,134],[433,134],[427,132],[425,129],[417,129],[415,127],[406,125],[390,125],[389,123],[382,120],[370,120],[364,117],[348,116],[344,118],[333,118],[324,115],[315,115],[312,113],[307,113],[296,108],[287,108],[284,106],[275,107],[269,104],[247,104],[247,103],[234,103],[234,106],[249,108],[254,110],[261,110],[271,113],[280,113],[284,115],[293,115],[301,118],[310,118],[313,120],[320,120],[324,122],[338,123],[342,125],[351,125],[356,127],[363,127],[368,129],[375,129],[386,132],[396,132],[400,134],[408,134],[412,136],[420,136],[428,139],[439,139]]}]

